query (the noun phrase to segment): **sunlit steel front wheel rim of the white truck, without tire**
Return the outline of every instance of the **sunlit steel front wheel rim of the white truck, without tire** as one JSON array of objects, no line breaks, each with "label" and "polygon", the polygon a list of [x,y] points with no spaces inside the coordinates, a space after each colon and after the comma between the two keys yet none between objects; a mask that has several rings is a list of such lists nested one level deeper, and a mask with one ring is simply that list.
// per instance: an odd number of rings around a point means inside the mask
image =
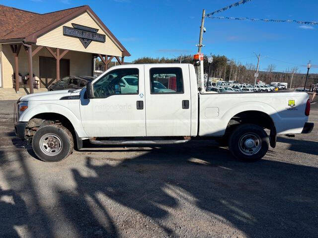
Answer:
[{"label": "sunlit steel front wheel rim of the white truck, without tire", "polygon": [[58,155],[62,151],[63,147],[61,138],[53,133],[43,135],[40,139],[39,145],[41,151],[48,156]]}]

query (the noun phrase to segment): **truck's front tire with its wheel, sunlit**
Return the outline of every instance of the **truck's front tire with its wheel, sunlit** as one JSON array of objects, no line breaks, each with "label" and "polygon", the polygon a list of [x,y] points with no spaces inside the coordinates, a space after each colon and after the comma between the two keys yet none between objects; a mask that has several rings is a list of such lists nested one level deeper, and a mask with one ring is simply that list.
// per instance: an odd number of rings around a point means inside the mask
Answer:
[{"label": "truck's front tire with its wheel, sunlit", "polygon": [[62,125],[45,125],[40,127],[33,136],[32,148],[40,160],[58,162],[72,153],[74,148],[73,136]]}]

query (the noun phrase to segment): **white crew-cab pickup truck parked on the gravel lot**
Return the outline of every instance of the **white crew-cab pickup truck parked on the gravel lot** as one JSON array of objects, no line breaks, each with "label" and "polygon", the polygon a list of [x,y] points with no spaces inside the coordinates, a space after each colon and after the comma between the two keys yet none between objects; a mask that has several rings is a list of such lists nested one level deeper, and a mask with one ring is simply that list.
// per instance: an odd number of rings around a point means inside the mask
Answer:
[{"label": "white crew-cab pickup truck parked on the gravel lot", "polygon": [[47,162],[81,149],[83,140],[124,146],[198,138],[216,139],[251,161],[275,147],[276,134],[311,132],[309,111],[305,92],[200,92],[192,64],[126,64],[83,89],[21,97],[14,127]]}]

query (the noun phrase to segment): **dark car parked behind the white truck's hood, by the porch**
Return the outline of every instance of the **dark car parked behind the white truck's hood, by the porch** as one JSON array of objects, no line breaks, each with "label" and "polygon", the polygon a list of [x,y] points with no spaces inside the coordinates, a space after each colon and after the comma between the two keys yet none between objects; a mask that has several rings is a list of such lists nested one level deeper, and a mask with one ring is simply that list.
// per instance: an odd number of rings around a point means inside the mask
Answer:
[{"label": "dark car parked behind the white truck's hood, by the porch", "polygon": [[52,83],[48,87],[48,91],[66,90],[66,89],[80,89],[86,86],[87,82],[91,82],[95,77],[91,76],[67,76]]}]

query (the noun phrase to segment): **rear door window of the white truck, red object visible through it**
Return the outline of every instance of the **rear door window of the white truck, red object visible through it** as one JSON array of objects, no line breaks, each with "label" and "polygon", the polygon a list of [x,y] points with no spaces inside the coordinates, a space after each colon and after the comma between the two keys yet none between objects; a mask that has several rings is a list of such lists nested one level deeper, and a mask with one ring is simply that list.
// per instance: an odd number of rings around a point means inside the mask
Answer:
[{"label": "rear door window of the white truck, red object visible through it", "polygon": [[151,68],[150,92],[151,94],[184,93],[182,69]]}]

